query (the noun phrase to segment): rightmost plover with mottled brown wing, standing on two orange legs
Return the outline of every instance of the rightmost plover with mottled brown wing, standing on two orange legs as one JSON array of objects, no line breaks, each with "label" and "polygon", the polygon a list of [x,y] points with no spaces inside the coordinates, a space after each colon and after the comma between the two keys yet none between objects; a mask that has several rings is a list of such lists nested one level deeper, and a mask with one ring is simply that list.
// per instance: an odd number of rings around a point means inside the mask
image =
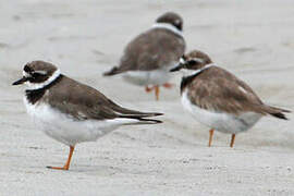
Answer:
[{"label": "rightmost plover with mottled brown wing, standing on two orange legs", "polygon": [[215,130],[232,134],[233,147],[235,135],[249,130],[261,117],[286,120],[283,112],[289,110],[265,105],[246,83],[217,66],[201,51],[183,56],[171,72],[181,69],[193,72],[182,78],[182,105],[198,122],[211,127],[208,146]]}]

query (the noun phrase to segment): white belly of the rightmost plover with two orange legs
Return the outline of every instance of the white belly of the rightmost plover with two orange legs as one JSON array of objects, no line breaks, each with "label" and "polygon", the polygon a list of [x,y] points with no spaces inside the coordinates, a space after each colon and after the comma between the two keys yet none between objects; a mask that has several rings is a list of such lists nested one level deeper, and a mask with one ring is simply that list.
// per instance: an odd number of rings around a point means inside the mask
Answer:
[{"label": "white belly of the rightmost plover with two orange legs", "polygon": [[186,90],[182,94],[182,105],[198,122],[219,132],[230,134],[247,131],[261,118],[261,114],[254,112],[233,115],[204,110],[191,103]]}]

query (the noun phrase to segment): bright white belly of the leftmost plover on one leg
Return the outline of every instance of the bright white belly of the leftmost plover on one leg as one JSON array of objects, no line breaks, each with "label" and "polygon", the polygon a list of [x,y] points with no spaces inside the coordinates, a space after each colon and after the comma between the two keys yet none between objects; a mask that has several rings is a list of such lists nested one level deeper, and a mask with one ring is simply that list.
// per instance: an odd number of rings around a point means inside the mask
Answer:
[{"label": "bright white belly of the leftmost plover on one leg", "polygon": [[24,103],[27,113],[33,118],[37,127],[44,131],[46,135],[69,146],[74,146],[83,142],[97,140],[120,125],[134,121],[127,119],[75,121],[64,113],[50,108],[48,105],[30,105],[26,98],[24,98]]}]

